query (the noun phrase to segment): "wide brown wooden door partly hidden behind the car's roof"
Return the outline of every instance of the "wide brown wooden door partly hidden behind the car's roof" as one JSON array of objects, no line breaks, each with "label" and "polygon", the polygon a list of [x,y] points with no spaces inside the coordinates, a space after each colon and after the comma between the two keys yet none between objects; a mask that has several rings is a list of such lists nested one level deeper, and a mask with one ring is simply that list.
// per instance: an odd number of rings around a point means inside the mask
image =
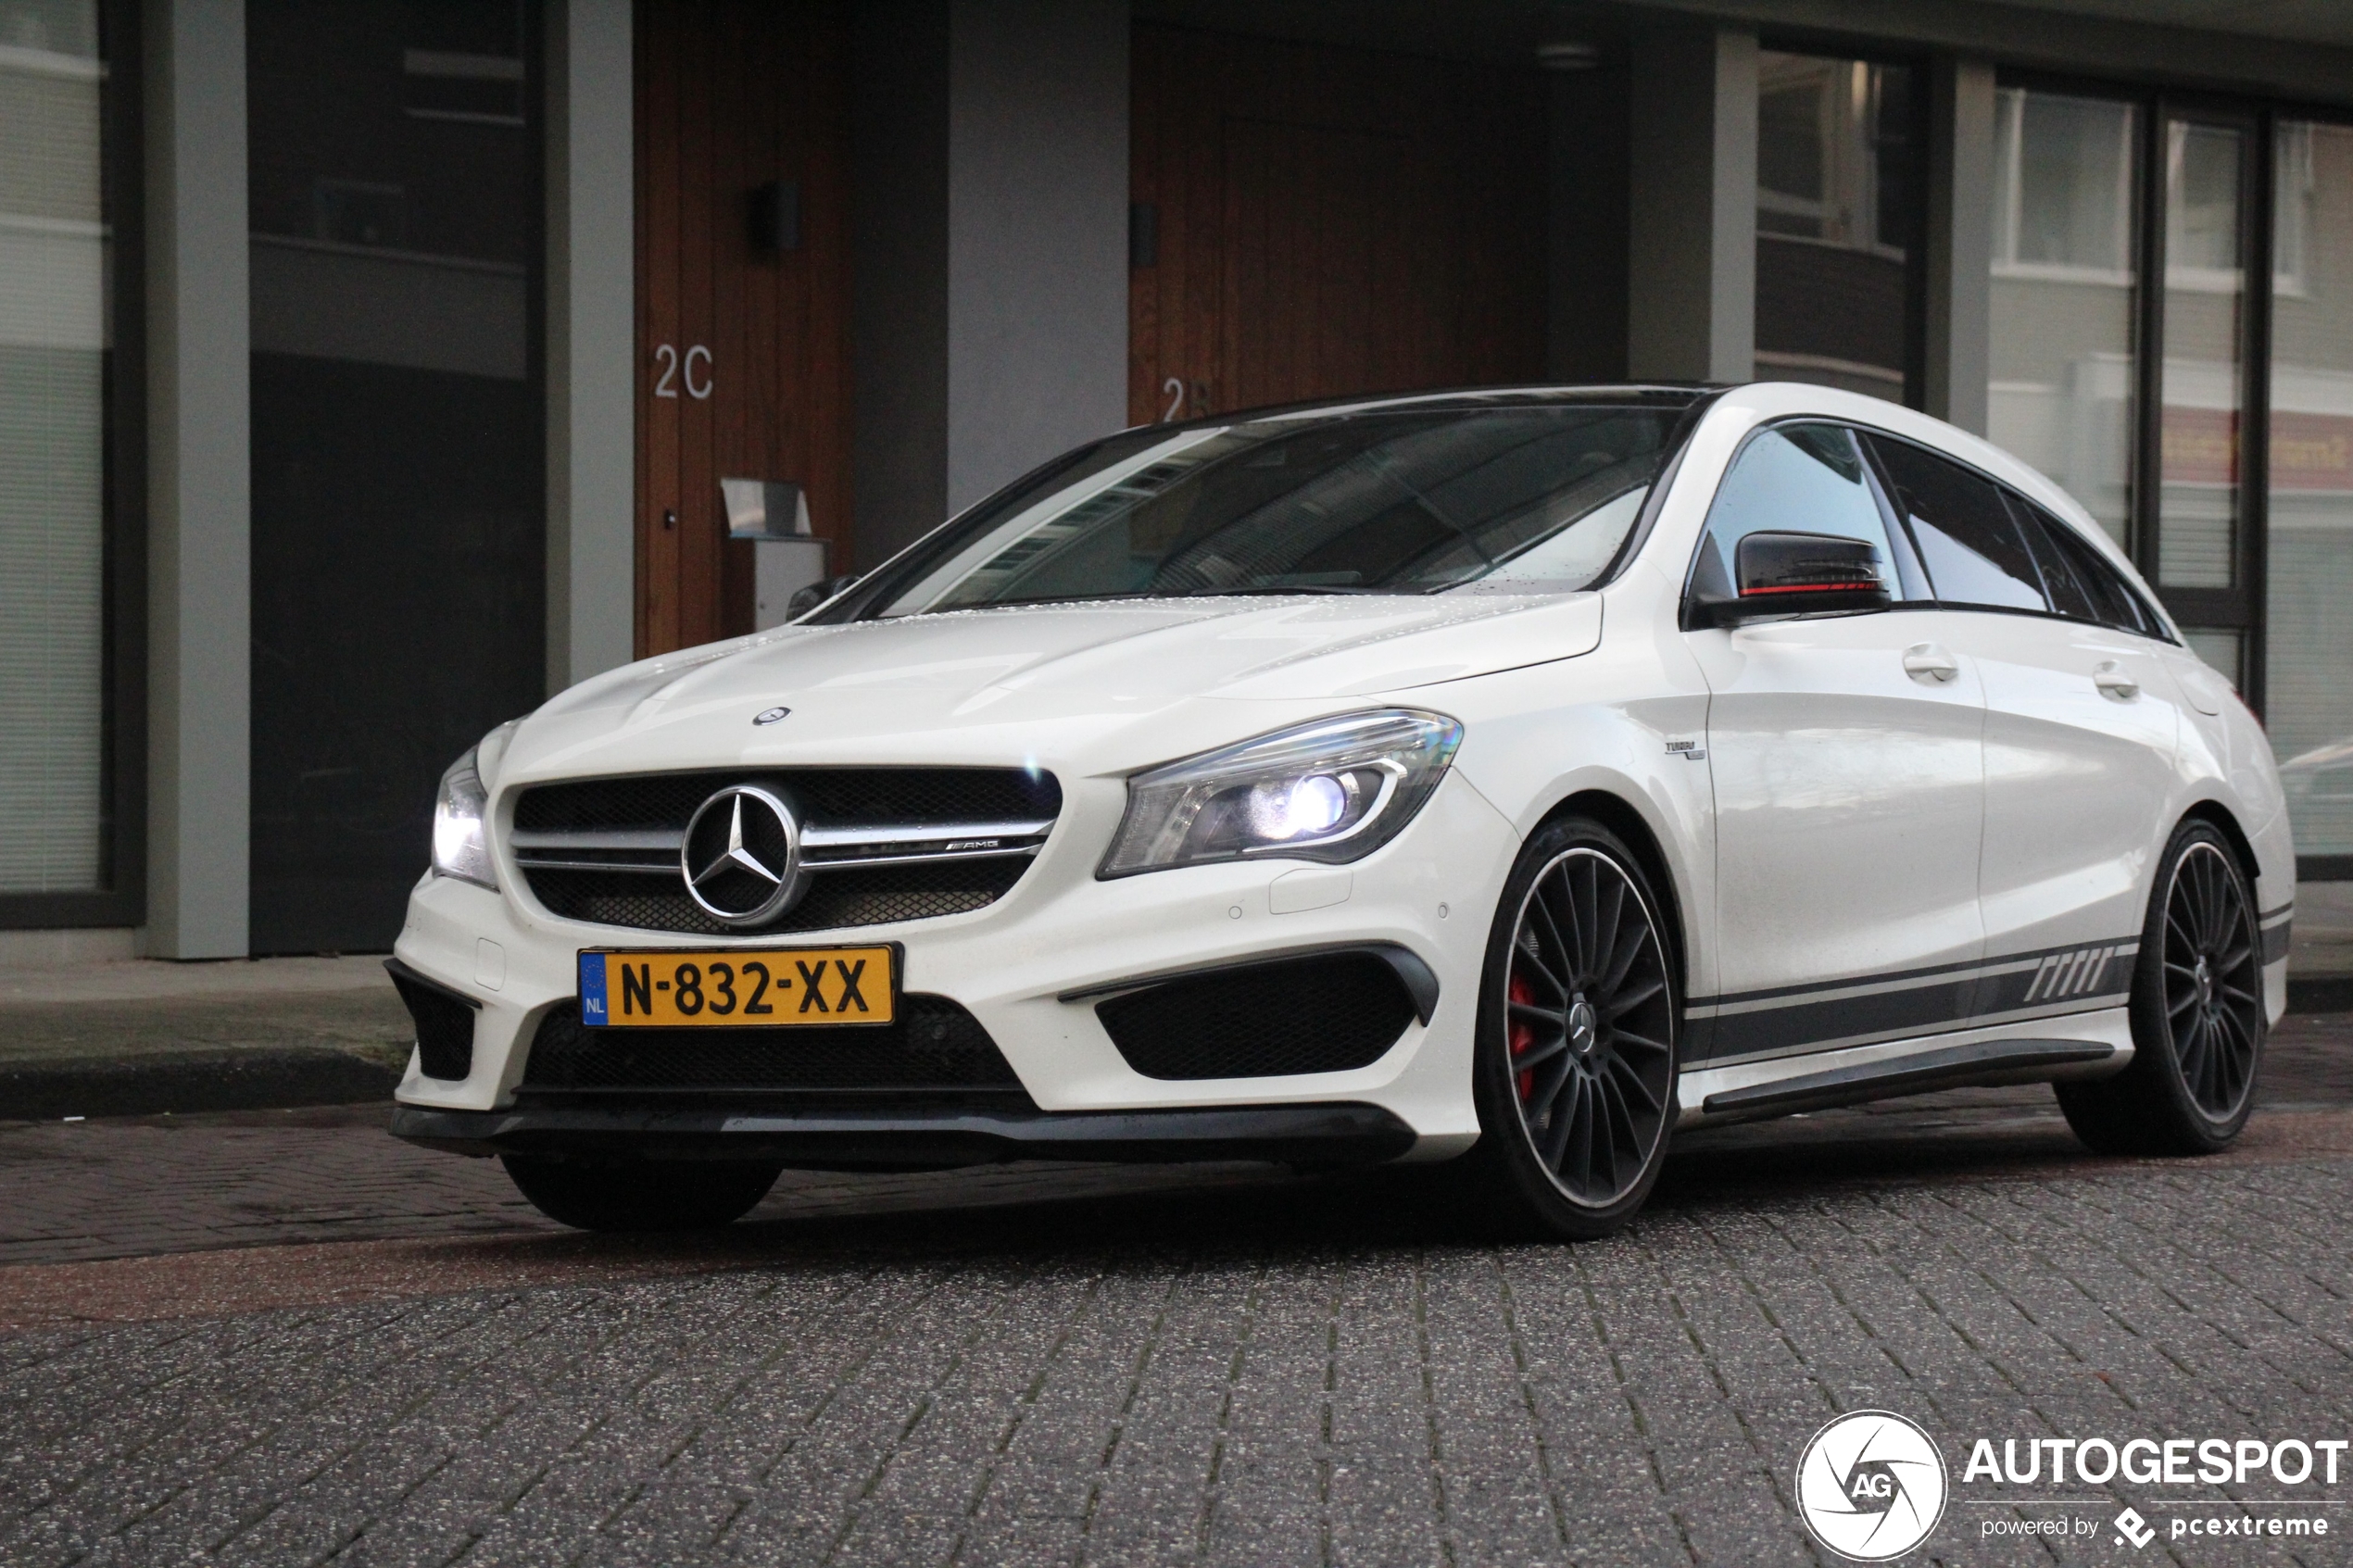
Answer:
[{"label": "wide brown wooden door partly hidden behind the car's roof", "polygon": [[1129,418],[1544,374],[1544,78],[1134,28]]}]

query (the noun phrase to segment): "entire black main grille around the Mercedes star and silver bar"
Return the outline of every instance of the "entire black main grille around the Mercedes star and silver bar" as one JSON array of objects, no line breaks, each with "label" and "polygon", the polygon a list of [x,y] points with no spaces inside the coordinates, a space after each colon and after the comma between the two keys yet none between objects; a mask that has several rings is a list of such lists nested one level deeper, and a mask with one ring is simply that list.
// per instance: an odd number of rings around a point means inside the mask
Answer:
[{"label": "entire black main grille around the Mercedes star and silver bar", "polygon": [[[642,773],[536,785],[515,799],[520,832],[612,827],[685,832],[694,809],[732,783],[758,783],[793,802],[805,825],[878,827],[896,823],[1035,823],[1061,813],[1061,785],[1026,769],[795,769],[788,773]],[[621,851],[602,851],[619,858]],[[567,851],[567,858],[602,858]],[[899,919],[984,910],[1002,898],[1028,856],[824,870],[781,919],[762,931],[840,931]],[[741,936],[711,919],[675,872],[525,867],[532,896],[551,914],[598,926]]]}]

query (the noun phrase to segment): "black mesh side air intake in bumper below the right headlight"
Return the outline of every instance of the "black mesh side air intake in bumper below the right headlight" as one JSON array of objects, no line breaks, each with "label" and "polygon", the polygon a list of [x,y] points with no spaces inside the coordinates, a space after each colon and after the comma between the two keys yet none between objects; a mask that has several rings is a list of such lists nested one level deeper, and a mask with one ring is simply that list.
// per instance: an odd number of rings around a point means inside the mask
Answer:
[{"label": "black mesh side air intake in bumper below the right headlight", "polygon": [[1414,1020],[1414,999],[1381,959],[1337,952],[1169,980],[1094,1013],[1148,1079],[1266,1079],[1369,1067]]}]

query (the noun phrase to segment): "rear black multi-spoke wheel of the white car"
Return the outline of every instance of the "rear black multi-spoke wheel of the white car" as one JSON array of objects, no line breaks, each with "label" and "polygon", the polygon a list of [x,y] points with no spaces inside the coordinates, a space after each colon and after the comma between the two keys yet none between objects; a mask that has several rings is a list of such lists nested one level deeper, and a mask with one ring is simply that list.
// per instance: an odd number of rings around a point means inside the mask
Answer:
[{"label": "rear black multi-spoke wheel of the white car", "polygon": [[2231,844],[2184,823],[2132,971],[2132,1065],[2059,1084],[2068,1126],[2101,1154],[2212,1154],[2247,1126],[2264,1065],[2264,940]]}]

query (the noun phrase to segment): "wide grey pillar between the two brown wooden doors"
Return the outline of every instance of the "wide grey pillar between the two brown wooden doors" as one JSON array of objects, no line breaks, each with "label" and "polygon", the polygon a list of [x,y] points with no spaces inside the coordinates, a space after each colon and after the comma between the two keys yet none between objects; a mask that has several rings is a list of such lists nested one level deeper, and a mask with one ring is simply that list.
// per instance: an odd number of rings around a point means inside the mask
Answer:
[{"label": "wide grey pillar between the two brown wooden doors", "polygon": [[1127,5],[859,7],[861,567],[1127,423]]}]

